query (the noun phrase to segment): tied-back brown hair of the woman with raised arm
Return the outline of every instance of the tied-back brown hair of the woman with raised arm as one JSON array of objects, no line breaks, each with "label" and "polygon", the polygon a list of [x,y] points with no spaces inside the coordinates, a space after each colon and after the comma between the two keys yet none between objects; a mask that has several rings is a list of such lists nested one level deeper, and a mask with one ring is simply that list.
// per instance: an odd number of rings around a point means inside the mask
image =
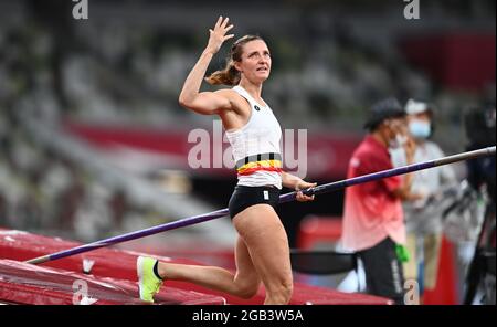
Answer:
[{"label": "tied-back brown hair of the woman with raised arm", "polygon": [[243,45],[254,40],[264,41],[258,35],[245,35],[236,40],[231,46],[224,68],[215,71],[205,77],[205,82],[211,85],[237,85],[240,83],[241,73],[236,70],[235,62],[240,62],[242,60]]}]

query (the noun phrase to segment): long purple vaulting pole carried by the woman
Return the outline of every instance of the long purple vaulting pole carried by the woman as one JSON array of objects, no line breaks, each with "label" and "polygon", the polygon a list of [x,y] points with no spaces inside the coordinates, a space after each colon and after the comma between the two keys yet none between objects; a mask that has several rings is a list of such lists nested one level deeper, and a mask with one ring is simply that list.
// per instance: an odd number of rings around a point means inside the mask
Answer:
[{"label": "long purple vaulting pole carried by the woman", "polygon": [[[343,189],[343,188],[348,188],[351,186],[356,186],[356,184],[360,184],[360,183],[364,183],[364,182],[369,182],[369,181],[374,181],[374,180],[379,180],[379,179],[383,179],[383,178],[388,178],[388,177],[392,177],[392,176],[404,175],[408,172],[434,168],[434,167],[454,164],[454,162],[462,161],[462,160],[474,159],[474,158],[478,158],[478,157],[483,157],[483,156],[491,156],[491,155],[495,155],[495,150],[496,150],[495,146],[488,147],[488,148],[483,148],[479,150],[474,150],[474,151],[463,152],[463,154],[458,154],[458,155],[454,155],[454,156],[443,157],[443,158],[431,160],[431,161],[413,164],[413,165],[388,169],[388,170],[382,170],[382,171],[378,171],[378,172],[373,172],[373,173],[369,173],[369,175],[364,175],[364,176],[359,176],[359,177],[355,177],[355,178],[350,178],[350,179],[335,181],[335,182],[330,182],[330,183],[326,183],[326,184],[321,184],[321,186],[317,186],[315,188],[304,190],[303,192],[307,196],[328,193],[328,192],[336,191],[339,189]],[[281,196],[279,203],[286,203],[286,202],[294,201],[296,193],[297,192],[294,191],[294,192]],[[96,241],[93,243],[83,244],[83,245],[80,245],[80,246],[76,246],[73,249],[60,251],[60,252],[52,253],[52,254],[46,254],[46,255],[39,256],[35,259],[31,259],[31,260],[28,260],[27,263],[40,264],[40,263],[44,263],[47,261],[54,261],[57,259],[80,254],[83,252],[93,251],[93,250],[96,250],[99,247],[110,246],[110,245],[114,245],[117,243],[123,243],[123,242],[127,242],[127,241],[131,241],[131,240],[136,240],[136,239],[141,239],[141,238],[161,233],[165,231],[170,231],[170,230],[176,230],[179,228],[193,225],[193,224],[205,222],[209,220],[222,218],[228,214],[229,214],[228,209],[222,209],[222,210],[212,211],[212,212],[204,213],[204,214],[184,218],[181,220],[160,224],[160,225],[148,228],[145,230],[139,230],[136,232],[130,232],[130,233],[126,233],[123,235],[113,236],[113,238]]]}]

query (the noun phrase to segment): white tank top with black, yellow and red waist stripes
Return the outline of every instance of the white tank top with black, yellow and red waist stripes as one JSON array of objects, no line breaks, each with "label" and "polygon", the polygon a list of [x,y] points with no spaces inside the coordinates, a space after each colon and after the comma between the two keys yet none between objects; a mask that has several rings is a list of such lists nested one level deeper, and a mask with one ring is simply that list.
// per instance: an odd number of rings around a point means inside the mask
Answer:
[{"label": "white tank top with black, yellow and red waist stripes", "polygon": [[[233,87],[251,105],[248,122],[240,129],[228,131],[240,186],[282,188],[282,127],[269,106],[260,105],[242,86]],[[271,155],[268,155],[271,154]],[[257,157],[257,155],[261,155]]]}]

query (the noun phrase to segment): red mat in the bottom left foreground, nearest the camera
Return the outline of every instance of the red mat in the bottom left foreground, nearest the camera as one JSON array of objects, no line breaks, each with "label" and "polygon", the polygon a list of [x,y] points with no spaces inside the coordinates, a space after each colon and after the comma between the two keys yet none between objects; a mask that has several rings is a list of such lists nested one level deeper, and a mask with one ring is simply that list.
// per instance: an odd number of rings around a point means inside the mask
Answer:
[{"label": "red mat in the bottom left foreground, nearest the camera", "polygon": [[[102,278],[19,261],[0,260],[0,300],[32,305],[142,305],[136,282]],[[167,287],[159,305],[222,305],[223,297]]]}]

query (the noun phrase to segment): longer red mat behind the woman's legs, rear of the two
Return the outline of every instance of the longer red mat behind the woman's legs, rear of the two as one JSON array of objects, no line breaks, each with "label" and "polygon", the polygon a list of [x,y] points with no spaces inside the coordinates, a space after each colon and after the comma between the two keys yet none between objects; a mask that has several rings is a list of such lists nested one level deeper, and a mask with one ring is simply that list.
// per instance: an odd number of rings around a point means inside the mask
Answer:
[{"label": "longer red mat behind the woman's legs, rear of the two", "polygon": [[[24,261],[28,259],[32,259],[35,256],[44,255],[47,253],[57,252],[64,249],[68,249],[72,246],[78,245],[76,242],[64,241],[60,239],[46,238],[36,234],[31,234],[27,232],[20,231],[11,231],[11,230],[2,230],[0,229],[0,257],[1,259],[10,259],[17,261]],[[109,282],[113,285],[119,285],[118,287],[123,287],[127,289],[127,292],[131,292],[138,297],[137,287],[136,287],[136,259],[140,255],[137,252],[123,251],[123,250],[113,250],[113,249],[99,249],[93,252],[88,252],[85,254],[74,255],[65,259],[61,259],[57,261],[49,262],[40,266],[40,270],[44,267],[55,268],[51,274],[60,274],[61,276],[64,274],[68,274],[75,277],[87,276],[91,279],[94,279],[96,283],[99,281]],[[182,259],[171,259],[171,257],[159,257],[163,261],[170,261],[175,263],[188,263],[188,264],[199,264],[193,261],[182,260]],[[91,271],[91,275],[84,275],[83,272],[83,260],[86,259],[88,261],[93,261],[94,265]],[[30,266],[30,265],[29,265]],[[24,270],[23,264],[18,266],[20,271]],[[0,272],[1,274],[1,272]],[[75,274],[75,275],[74,275]],[[68,279],[70,283],[72,279]],[[110,278],[110,279],[108,279]],[[44,279],[42,279],[44,281]],[[56,281],[56,279],[54,279]],[[74,282],[74,281],[73,281]],[[66,283],[66,284],[67,284]],[[129,284],[130,283],[130,284]],[[11,283],[9,285],[12,285]],[[124,286],[121,286],[124,285]],[[24,288],[25,285],[23,283],[15,284],[14,287]],[[42,283],[42,286],[46,285]],[[54,285],[52,285],[54,286]],[[2,288],[3,285],[0,285]],[[9,286],[10,289],[12,288]],[[56,287],[56,285],[54,286]],[[3,292],[8,292],[7,286],[2,288]],[[52,289],[53,296],[60,296],[56,289]],[[51,291],[51,292],[52,292]],[[177,296],[176,299],[170,297],[171,292],[173,296]],[[162,298],[162,302],[166,300],[177,300],[179,303],[190,304],[193,299],[184,297],[182,298],[181,292],[197,293],[199,295],[199,300],[202,302],[213,302],[220,304],[220,298],[225,299],[229,304],[262,304],[264,302],[264,289],[261,287],[260,292],[251,299],[243,300],[236,297],[229,296],[224,293],[213,292],[207,289],[204,287],[200,287],[190,283],[182,282],[166,282],[161,292],[159,293],[159,297]],[[50,292],[49,292],[50,294]],[[0,292],[0,300],[2,293]],[[66,296],[66,295],[61,295]],[[181,299],[182,298],[182,299]],[[3,298],[7,300],[6,298]],[[63,299],[67,300],[66,297]],[[126,299],[127,300],[127,299]],[[325,287],[315,287],[309,285],[303,285],[299,283],[295,284],[294,295],[292,297],[290,304],[341,304],[341,305],[351,305],[351,304],[388,304],[388,299],[369,296],[363,294],[346,294],[341,292],[337,292],[334,289],[325,288]]]}]

